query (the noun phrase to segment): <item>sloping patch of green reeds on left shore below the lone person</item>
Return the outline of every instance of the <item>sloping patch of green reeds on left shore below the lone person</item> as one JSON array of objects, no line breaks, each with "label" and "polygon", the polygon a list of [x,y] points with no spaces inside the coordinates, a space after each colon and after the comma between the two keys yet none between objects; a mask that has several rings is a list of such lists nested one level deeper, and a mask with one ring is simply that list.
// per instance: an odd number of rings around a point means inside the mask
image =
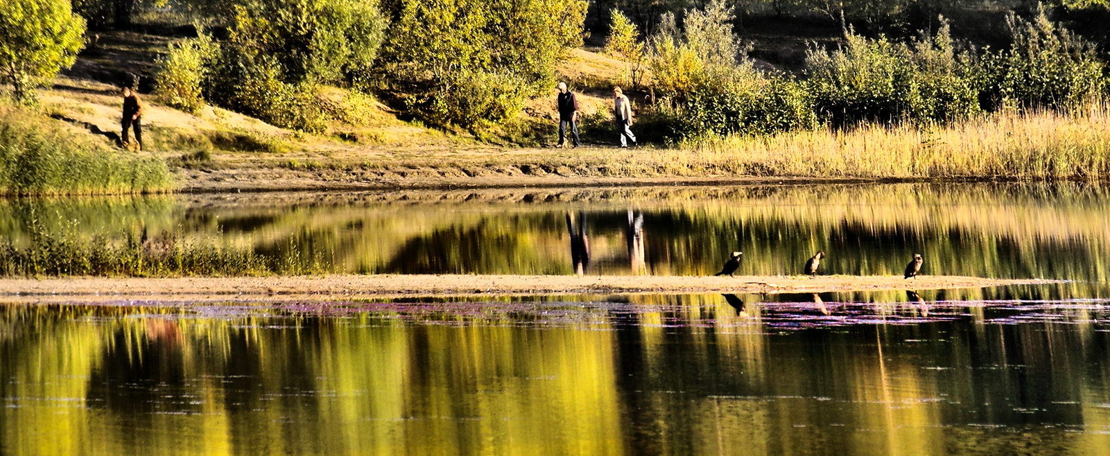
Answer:
[{"label": "sloping patch of green reeds on left shore below the lone person", "polygon": [[109,150],[60,121],[0,105],[0,194],[109,194],[169,191],[165,162]]}]

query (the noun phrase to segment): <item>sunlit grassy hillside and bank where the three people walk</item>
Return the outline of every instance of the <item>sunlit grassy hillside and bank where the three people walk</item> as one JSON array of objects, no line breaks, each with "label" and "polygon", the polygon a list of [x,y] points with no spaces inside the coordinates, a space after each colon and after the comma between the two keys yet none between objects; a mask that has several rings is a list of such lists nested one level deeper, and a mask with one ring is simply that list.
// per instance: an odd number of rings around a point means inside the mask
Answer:
[{"label": "sunlit grassy hillside and bank where the three people walk", "polygon": [[[1001,12],[983,14],[1000,17]],[[758,68],[787,72],[801,68],[808,43],[841,39],[831,22],[814,18],[747,17],[740,30]],[[983,26],[965,32],[989,41],[997,36],[992,30]],[[186,191],[714,182],[750,176],[1103,179],[1110,174],[1110,151],[1104,146],[1110,143],[1110,116],[1101,105],[1076,115],[1003,113],[925,130],[823,128],[709,143],[659,142],[618,151],[610,149],[615,138],[609,93],[614,84],[626,82],[625,64],[588,45],[569,51],[556,67],[557,79],[579,93],[583,149],[551,149],[557,140],[554,88],[529,100],[511,121],[477,132],[427,128],[381,101],[325,88],[317,102],[332,120],[324,132],[309,134],[220,108],[189,114],[165,107],[150,93],[155,61],[167,43],[191,32],[189,27],[167,26],[90,32],[89,45],[77,64],[40,94],[42,111],[84,132],[90,141],[117,146],[118,88],[138,82],[148,104],[144,154],[164,159],[178,176],[178,188]],[[587,44],[599,42],[602,38],[595,36]],[[629,95],[644,103],[650,92],[632,90]],[[1007,134],[1012,129],[1028,134]],[[653,125],[634,130],[643,136],[660,136]],[[976,141],[963,143],[969,138]],[[877,144],[884,153],[875,153]]]}]

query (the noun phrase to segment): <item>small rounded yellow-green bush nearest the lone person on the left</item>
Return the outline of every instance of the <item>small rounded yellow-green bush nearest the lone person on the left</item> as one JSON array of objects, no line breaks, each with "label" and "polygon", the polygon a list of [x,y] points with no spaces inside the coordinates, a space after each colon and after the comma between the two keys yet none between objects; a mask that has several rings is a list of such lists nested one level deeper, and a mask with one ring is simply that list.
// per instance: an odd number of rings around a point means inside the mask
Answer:
[{"label": "small rounded yellow-green bush nearest the lone person on the left", "polygon": [[170,51],[159,59],[155,77],[157,92],[167,105],[190,113],[204,108],[202,87],[220,48],[212,37],[201,32],[199,38],[170,43]]}]

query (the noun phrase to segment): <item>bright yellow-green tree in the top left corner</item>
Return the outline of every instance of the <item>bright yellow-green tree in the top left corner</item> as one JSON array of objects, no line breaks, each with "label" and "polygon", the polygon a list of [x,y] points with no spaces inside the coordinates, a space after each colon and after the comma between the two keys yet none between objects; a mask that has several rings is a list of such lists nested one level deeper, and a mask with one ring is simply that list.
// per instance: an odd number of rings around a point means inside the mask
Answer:
[{"label": "bright yellow-green tree in the top left corner", "polygon": [[19,101],[33,88],[70,67],[84,44],[84,20],[69,0],[0,2],[0,82],[12,85]]}]

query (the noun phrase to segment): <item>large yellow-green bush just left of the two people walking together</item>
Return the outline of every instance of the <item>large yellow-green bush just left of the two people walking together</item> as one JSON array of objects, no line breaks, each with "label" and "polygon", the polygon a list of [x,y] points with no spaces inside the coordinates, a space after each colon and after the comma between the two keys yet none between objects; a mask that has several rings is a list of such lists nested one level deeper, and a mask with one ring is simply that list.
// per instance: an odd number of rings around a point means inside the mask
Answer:
[{"label": "large yellow-green bush just left of the two people walking together", "polygon": [[[398,0],[383,49],[389,82],[408,108],[437,124],[500,122],[521,97],[553,83],[555,62],[582,44],[582,0]],[[492,87],[482,87],[490,83]],[[474,93],[453,93],[460,88]],[[464,99],[465,98],[465,99]]]}]

